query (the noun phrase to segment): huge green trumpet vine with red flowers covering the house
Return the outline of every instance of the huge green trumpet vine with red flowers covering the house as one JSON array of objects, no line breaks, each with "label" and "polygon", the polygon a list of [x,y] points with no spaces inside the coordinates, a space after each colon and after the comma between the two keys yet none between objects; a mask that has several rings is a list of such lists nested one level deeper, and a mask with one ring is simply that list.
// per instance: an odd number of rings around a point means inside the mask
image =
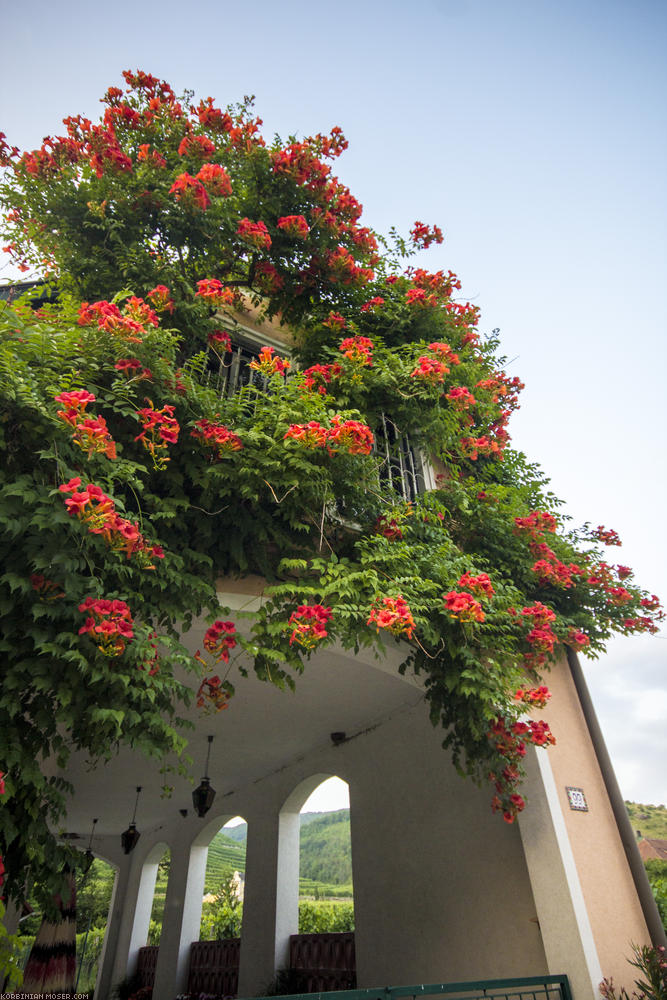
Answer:
[{"label": "huge green trumpet vine with red flowers covering the house", "polygon": [[[597,655],[613,631],[653,630],[657,600],[602,560],[596,539],[613,534],[558,523],[539,468],[508,447],[520,384],[495,335],[457,301],[453,273],[404,268],[437,230],[393,234],[380,253],[327,163],[346,145],[337,130],[267,146],[247,102],[223,112],[146,74],[126,82],[105,95],[99,127],[71,118],[34,153],[0,148],[13,257],[61,293],[38,312],[0,303],[9,896],[29,873],[48,907],[71,853],[53,832],[71,789],[39,761],[62,773],[72,751],[104,760],[129,745],[185,768],[181,708],[209,668],[223,700],[249,662],[292,687],[334,641],[400,644],[454,763],[491,775],[511,822],[525,743],[551,738],[520,721],[515,691],[540,682],[557,643]],[[267,316],[290,325],[302,366],[320,367],[285,378],[266,359],[226,395],[216,331]],[[85,415],[63,402],[75,391],[94,396]],[[149,426],[156,414],[180,433]],[[407,448],[406,435],[440,470],[411,502],[384,450]],[[97,487],[107,512],[75,501],[72,479]],[[227,666],[226,648],[193,660],[180,635],[221,614],[216,578],[248,572],[272,587],[243,634],[237,623],[245,659]],[[121,602],[131,636],[86,617],[99,601]],[[538,606],[539,636],[526,617]]]}]

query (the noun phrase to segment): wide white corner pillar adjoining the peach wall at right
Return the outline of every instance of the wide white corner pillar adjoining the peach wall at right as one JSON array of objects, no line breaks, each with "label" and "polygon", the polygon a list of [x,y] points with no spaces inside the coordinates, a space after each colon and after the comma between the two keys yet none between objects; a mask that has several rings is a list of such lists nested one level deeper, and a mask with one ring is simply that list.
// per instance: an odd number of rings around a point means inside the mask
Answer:
[{"label": "wide white corner pillar adjoining the peach wall at right", "polygon": [[574,1000],[598,1000],[602,969],[547,752],[530,747],[525,767],[519,830],[548,971],[567,971]]}]

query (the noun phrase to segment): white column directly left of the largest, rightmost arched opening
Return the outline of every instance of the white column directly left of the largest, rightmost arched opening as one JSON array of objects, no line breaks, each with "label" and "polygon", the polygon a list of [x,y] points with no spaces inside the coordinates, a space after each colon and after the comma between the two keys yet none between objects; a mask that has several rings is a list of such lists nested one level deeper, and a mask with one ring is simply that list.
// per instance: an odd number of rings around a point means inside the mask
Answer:
[{"label": "white column directly left of the largest, rightmost arched opening", "polygon": [[267,805],[247,819],[239,996],[258,996],[287,966],[299,928],[299,812]]}]

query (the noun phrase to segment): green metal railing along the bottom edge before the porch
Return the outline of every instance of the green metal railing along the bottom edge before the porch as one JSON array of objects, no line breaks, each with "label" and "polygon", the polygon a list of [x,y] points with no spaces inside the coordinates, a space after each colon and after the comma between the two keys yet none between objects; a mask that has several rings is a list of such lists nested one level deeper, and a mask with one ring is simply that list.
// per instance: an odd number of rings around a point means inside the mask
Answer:
[{"label": "green metal railing along the bottom edge before the porch", "polygon": [[572,1000],[567,976],[530,976],[523,979],[483,979],[465,983],[293,993],[284,996],[282,1000],[402,1000],[408,997],[417,1000],[418,997],[445,995],[452,1000]]}]

